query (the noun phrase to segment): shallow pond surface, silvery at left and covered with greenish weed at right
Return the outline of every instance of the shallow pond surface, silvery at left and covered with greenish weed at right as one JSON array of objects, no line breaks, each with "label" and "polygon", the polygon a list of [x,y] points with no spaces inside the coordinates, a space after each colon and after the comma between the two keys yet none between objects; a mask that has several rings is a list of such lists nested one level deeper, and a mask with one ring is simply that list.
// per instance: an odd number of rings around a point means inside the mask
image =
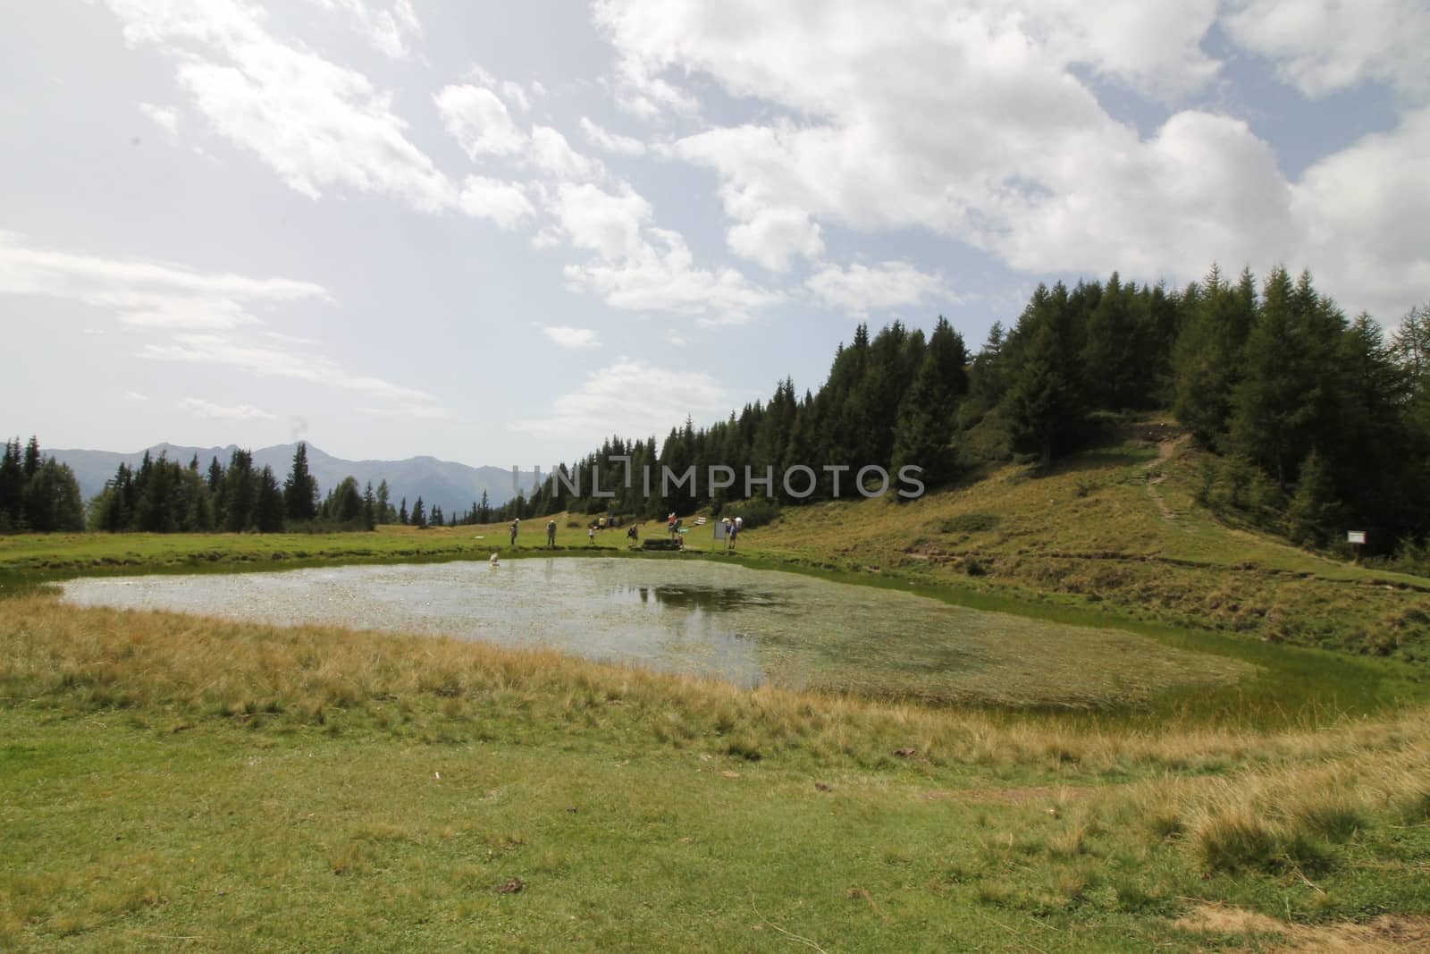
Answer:
[{"label": "shallow pond surface, silvery at left and covered with greenish weed at right", "polygon": [[1097,704],[1250,668],[1143,636],[709,561],[529,558],[92,578],[82,605],[449,634],[756,685]]}]

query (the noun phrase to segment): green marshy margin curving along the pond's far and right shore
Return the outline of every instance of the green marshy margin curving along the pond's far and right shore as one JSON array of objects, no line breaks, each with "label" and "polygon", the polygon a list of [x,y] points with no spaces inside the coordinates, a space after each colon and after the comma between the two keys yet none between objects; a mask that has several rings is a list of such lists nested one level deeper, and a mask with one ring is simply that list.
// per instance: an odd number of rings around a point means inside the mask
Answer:
[{"label": "green marshy margin curving along the pond's far and right shore", "polygon": [[[478,528],[483,529],[483,528]],[[1394,661],[1371,658],[1347,658],[1344,654],[1316,648],[1271,645],[1246,636],[1208,629],[1184,629],[1165,624],[1133,619],[1104,609],[1093,609],[1060,601],[1025,601],[1017,596],[974,589],[957,582],[930,582],[909,579],[895,572],[861,572],[839,566],[819,565],[811,561],[781,554],[726,554],[724,551],[688,549],[682,554],[651,554],[629,546],[592,546],[589,544],[565,544],[546,546],[472,546],[470,541],[455,533],[432,532],[426,548],[413,545],[420,535],[416,532],[376,535],[325,535],[317,538],[332,549],[276,548],[260,551],[256,545],[272,546],[275,541],[287,542],[292,538],[270,538],[250,535],[229,535],[217,542],[233,542],[239,546],[213,548],[214,541],[174,541],[157,538],[162,544],[189,544],[190,549],[174,546],[167,552],[144,556],[89,558],[79,556],[46,561],[50,566],[13,569],[0,564],[0,596],[4,594],[33,592],[51,584],[82,576],[139,576],[139,575],[189,575],[189,574],[245,574],[285,572],[327,566],[362,565],[423,565],[460,561],[483,561],[490,552],[499,552],[500,559],[546,559],[546,558],[621,558],[638,561],[712,561],[734,562],[739,566],[762,572],[791,572],[829,582],[857,586],[872,586],[937,599],[970,609],[1001,612],[1030,619],[1057,622],[1070,626],[1105,628],[1137,634],[1163,645],[1193,652],[1205,652],[1231,659],[1240,659],[1258,667],[1258,675],[1250,684],[1224,688],[1213,692],[1185,691],[1167,692],[1151,704],[1104,707],[1097,711],[1068,711],[1065,707],[1044,708],[1037,704],[1017,707],[992,707],[1010,717],[1037,712],[1065,712],[1070,718],[1091,722],[1117,721],[1231,721],[1241,724],[1293,725],[1306,721],[1321,722],[1343,717],[1367,715],[1394,709],[1430,698],[1430,674],[1419,667]],[[440,535],[439,535],[440,533]],[[56,538],[74,541],[76,538]],[[83,538],[80,538],[83,541]],[[156,538],[142,538],[149,544]],[[363,542],[380,541],[380,546],[363,546]],[[100,536],[103,544],[133,542],[124,536]],[[204,549],[194,549],[206,546]],[[127,562],[106,562],[127,561]],[[918,702],[951,708],[967,708],[960,702],[917,695],[884,694],[889,702]],[[978,707],[975,707],[978,708]]]}]

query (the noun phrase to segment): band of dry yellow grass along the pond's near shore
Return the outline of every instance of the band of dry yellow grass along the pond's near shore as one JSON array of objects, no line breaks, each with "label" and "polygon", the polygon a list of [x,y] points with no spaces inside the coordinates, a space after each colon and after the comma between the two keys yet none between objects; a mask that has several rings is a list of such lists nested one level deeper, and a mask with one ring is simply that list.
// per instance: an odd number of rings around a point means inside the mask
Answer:
[{"label": "band of dry yellow grass along the pond's near shore", "polygon": [[[1165,832],[1231,815],[1231,792],[1253,792],[1258,810],[1291,805],[1290,791],[1281,798],[1280,788],[1268,788],[1280,768],[1320,772],[1320,788],[1334,782],[1337,791],[1354,791],[1361,808],[1386,785],[1394,790],[1383,797],[1407,811],[1414,810],[1417,792],[1430,804],[1430,790],[1417,788],[1430,758],[1424,711],[1291,731],[1178,724],[1090,728],[1057,714],[1008,717],[769,687],[741,689],[440,636],[76,608],[47,594],[13,598],[4,608],[0,695],[11,705],[157,709],[189,719],[260,724],[366,718],[393,731],[413,724],[420,711],[429,727],[545,719],[571,731],[638,732],[678,748],[714,745],[748,759],[802,752],[892,764],[898,749],[914,762],[1031,765],[1060,777],[1204,774],[1237,767],[1271,772],[1238,780],[1220,801],[1213,795],[1217,788],[1207,787],[1200,808],[1184,807],[1175,818],[1165,805],[1181,794],[1157,794],[1163,808],[1151,814]],[[1287,788],[1300,784],[1293,780]],[[1287,815],[1326,831],[1347,817],[1328,808],[1321,815],[1310,808]]]}]

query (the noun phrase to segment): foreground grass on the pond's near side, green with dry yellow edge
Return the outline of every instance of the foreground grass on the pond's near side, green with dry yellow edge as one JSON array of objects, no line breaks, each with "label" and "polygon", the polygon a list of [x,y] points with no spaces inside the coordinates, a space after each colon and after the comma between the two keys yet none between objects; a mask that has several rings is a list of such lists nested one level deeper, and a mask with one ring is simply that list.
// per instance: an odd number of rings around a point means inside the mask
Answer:
[{"label": "foreground grass on the pond's near side, green with dry yellow edge", "polygon": [[17,950],[1430,938],[1423,711],[1110,731],[432,636],[3,606]]}]

